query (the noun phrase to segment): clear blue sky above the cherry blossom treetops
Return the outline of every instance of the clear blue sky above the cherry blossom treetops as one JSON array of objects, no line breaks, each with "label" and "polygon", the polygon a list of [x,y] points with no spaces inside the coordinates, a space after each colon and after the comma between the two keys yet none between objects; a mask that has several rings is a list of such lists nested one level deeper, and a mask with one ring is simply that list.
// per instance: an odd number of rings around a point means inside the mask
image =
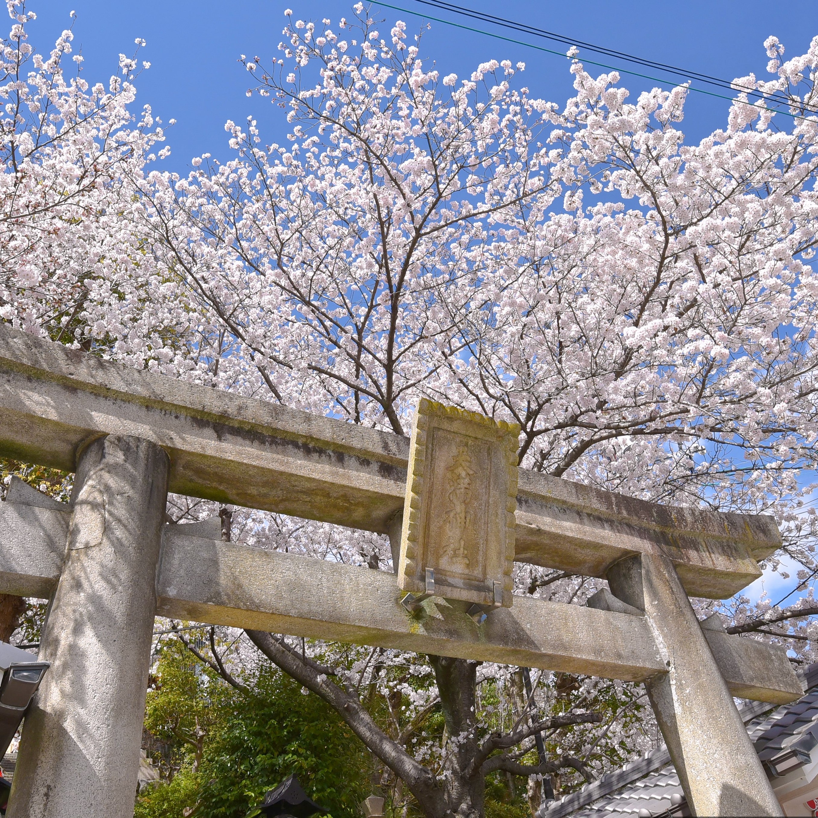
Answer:
[{"label": "clear blue sky above the cherry blossom treetops", "polygon": [[[424,10],[414,0],[389,2]],[[256,115],[266,141],[282,141],[286,128],[281,112],[269,102],[245,97],[249,75],[238,65],[238,56],[258,55],[268,61],[277,55],[286,7],[305,20],[329,17],[335,21],[339,16],[351,16],[352,5],[352,0],[30,0],[29,9],[38,15],[29,28],[30,42],[38,51],[47,52],[61,30],[70,25],[69,12],[76,10],[74,45],[82,48],[86,79],[96,81],[115,70],[119,52],[133,52],[134,38],[145,38],[142,58],[151,61],[151,69],[138,79],[138,102],[150,103],[165,121],[172,117],[177,120],[169,131],[172,155],[165,166],[183,172],[194,155],[205,151],[216,157],[227,155],[226,119],[241,122],[247,115]],[[762,42],[769,34],[780,38],[789,56],[805,52],[811,37],[818,34],[815,0],[796,0],[786,6],[770,0],[505,0],[499,5],[488,0],[463,0],[461,5],[725,79],[750,71],[765,74],[767,58]],[[406,20],[410,32],[421,25],[420,18],[398,11],[375,7],[373,12],[390,24],[396,19]],[[527,69],[521,82],[533,94],[559,103],[570,96],[567,60],[482,34],[432,25],[424,35],[423,54],[437,61],[445,73],[464,75],[480,61],[507,57],[525,61]],[[559,45],[555,47],[561,50]],[[622,84],[636,93],[658,83],[623,75]],[[681,127],[690,140],[698,141],[724,124],[727,103],[691,96]]]}]

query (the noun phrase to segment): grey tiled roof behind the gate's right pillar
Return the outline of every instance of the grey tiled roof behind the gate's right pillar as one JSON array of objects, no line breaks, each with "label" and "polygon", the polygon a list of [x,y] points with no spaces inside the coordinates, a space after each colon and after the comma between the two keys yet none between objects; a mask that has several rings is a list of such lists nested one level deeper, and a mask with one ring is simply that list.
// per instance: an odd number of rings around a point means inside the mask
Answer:
[{"label": "grey tiled roof behind the gate's right pillar", "polygon": [[[753,702],[739,710],[762,762],[798,742],[811,728],[818,733],[818,663],[798,675],[808,692],[797,702],[775,709],[771,704]],[[538,816],[638,816],[640,810],[655,816],[675,807],[683,794],[670,755],[662,747],[552,801]]]}]

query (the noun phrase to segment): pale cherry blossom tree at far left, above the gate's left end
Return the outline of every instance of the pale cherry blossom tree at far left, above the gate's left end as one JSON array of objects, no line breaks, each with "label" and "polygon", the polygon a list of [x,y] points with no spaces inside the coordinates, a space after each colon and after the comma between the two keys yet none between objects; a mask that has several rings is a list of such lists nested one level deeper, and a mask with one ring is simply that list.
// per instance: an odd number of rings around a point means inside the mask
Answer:
[{"label": "pale cherry blossom tree at far left, above the gate's left end", "polygon": [[[0,317],[135,366],[166,360],[167,342],[187,321],[178,297],[169,297],[173,283],[133,231],[141,204],[130,180],[164,140],[149,106],[139,115],[131,110],[137,54],[120,54],[117,74],[91,85],[83,57],[72,54],[71,29],[42,56],[25,29],[34,12],[15,0],[7,8],[11,33],[0,41]],[[136,51],[143,45],[137,38]]]}]

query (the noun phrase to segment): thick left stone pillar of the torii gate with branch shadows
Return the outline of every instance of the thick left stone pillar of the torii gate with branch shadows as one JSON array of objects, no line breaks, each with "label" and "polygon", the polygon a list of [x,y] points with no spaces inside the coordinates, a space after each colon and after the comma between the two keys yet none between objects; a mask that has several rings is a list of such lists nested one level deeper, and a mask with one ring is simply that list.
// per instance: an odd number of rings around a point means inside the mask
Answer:
[{"label": "thick left stone pillar of the torii gate with branch shadows", "polygon": [[68,551],[9,818],[133,815],[169,460],[110,435],[79,457]]}]

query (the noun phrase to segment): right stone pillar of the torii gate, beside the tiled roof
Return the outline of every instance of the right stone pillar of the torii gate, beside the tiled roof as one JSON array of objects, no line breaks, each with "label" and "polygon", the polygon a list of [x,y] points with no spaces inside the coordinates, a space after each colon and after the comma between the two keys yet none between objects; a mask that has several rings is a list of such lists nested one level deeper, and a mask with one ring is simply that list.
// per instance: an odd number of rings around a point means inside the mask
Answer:
[{"label": "right stone pillar of the torii gate, beside the tiled roof", "polygon": [[[629,557],[613,565],[608,582],[615,596],[645,611],[667,663],[667,673],[646,681],[645,689],[694,814],[783,815],[671,561]],[[707,633],[719,648],[727,644],[718,639],[725,634]],[[735,672],[734,659],[728,672]],[[773,672],[785,661],[774,656]]]}]

